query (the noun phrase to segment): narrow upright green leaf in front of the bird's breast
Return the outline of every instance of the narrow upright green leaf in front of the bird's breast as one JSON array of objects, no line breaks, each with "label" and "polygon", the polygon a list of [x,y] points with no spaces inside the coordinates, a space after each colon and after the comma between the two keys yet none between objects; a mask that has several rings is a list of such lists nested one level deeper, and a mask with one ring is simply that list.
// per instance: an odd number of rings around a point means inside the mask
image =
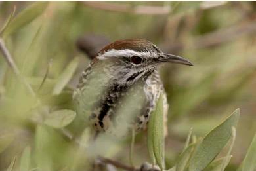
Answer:
[{"label": "narrow upright green leaf in front of the bird's breast", "polygon": [[[153,147],[154,157],[156,158],[156,162],[161,170],[164,169],[164,133],[163,133],[163,96],[160,95],[158,99],[158,103],[156,104],[156,109],[152,112],[151,116],[151,125],[150,125],[150,133],[149,140],[152,140],[152,144],[149,142],[149,149]],[[152,154],[151,154],[152,155]],[[152,157],[152,156],[151,156]]]}]

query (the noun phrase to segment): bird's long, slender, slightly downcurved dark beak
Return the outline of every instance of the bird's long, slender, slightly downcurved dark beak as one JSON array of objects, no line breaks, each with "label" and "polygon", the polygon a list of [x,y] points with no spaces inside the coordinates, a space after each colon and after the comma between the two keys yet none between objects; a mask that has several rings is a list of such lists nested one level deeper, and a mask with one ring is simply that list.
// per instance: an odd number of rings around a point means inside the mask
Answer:
[{"label": "bird's long, slender, slightly downcurved dark beak", "polygon": [[160,57],[158,58],[157,62],[171,62],[171,63],[176,63],[176,64],[184,64],[187,66],[194,66],[189,60],[186,60],[185,58],[182,58],[180,56],[176,56],[173,54],[164,54],[161,53]]}]

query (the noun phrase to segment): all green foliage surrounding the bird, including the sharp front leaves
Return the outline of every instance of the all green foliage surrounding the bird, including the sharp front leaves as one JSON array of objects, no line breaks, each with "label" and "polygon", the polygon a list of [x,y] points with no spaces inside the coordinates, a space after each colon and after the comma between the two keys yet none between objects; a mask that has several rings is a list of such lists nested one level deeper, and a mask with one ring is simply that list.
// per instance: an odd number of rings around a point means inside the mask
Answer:
[{"label": "all green foliage surrounding the bird, including the sharp front leaves", "polygon": [[[148,126],[148,153],[145,132],[132,140],[130,158],[136,168],[150,157],[161,170],[256,170],[255,3],[110,3],[129,5],[131,12],[93,9],[81,2],[0,1],[0,38],[36,94],[30,94],[0,53],[0,170],[90,170],[96,155],[127,163],[129,136],[104,134],[93,142],[92,132],[77,124],[84,118],[74,111],[72,89],[89,59],[75,43],[84,33],[149,39],[195,64],[160,68],[170,104],[169,135],[163,135],[160,96]],[[171,11],[136,13],[148,12],[144,5]],[[220,124],[223,114],[237,106],[243,114],[238,126],[239,109]]]}]

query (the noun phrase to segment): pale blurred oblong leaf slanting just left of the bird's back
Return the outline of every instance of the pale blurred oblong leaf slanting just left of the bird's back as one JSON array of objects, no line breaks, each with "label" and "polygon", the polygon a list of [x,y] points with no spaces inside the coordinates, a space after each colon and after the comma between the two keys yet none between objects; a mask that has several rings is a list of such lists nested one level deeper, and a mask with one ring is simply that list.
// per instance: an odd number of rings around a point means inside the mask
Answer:
[{"label": "pale blurred oblong leaf slanting just left of the bird's back", "polygon": [[60,74],[60,77],[58,77],[57,83],[53,88],[53,94],[60,94],[62,92],[63,88],[68,84],[68,81],[72,78],[72,76],[75,73],[75,69],[77,68],[79,64],[79,58],[74,58],[70,64],[64,69],[64,71]]}]

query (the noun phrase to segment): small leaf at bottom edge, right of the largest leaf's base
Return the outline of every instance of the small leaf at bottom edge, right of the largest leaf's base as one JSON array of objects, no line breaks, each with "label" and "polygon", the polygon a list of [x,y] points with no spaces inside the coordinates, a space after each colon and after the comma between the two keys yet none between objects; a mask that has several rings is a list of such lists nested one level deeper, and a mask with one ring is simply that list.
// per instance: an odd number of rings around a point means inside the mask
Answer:
[{"label": "small leaf at bottom edge, right of the largest leaf's base", "polygon": [[203,171],[221,171],[223,167],[223,162],[226,161],[226,164],[224,167],[228,165],[228,162],[230,162],[232,155],[227,155],[226,157],[221,157],[219,159],[216,159],[215,161],[211,162],[209,166],[207,166]]}]

